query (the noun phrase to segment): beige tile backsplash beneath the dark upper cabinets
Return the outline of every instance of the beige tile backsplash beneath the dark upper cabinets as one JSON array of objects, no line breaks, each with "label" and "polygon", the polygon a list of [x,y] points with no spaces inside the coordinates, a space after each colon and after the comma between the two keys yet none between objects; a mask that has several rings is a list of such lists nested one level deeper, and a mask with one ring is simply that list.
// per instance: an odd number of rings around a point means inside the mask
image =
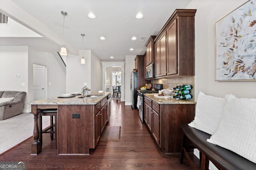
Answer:
[{"label": "beige tile backsplash beneath the dark upper cabinets", "polygon": [[163,84],[163,88],[173,88],[180,84],[190,84],[192,85],[191,94],[194,96],[194,86],[195,86],[195,78],[194,76],[187,76],[187,77],[177,77],[177,78],[162,78],[152,80],[151,84]]}]

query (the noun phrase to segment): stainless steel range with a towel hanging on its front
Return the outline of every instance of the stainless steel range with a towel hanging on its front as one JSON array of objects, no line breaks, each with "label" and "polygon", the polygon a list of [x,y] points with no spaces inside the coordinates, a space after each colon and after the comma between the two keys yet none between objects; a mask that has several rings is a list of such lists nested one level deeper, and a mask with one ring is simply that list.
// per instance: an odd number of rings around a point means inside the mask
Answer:
[{"label": "stainless steel range with a towel hanging on its front", "polygon": [[153,88],[155,89],[154,91],[153,90],[138,91],[138,98],[141,98],[138,110],[139,110],[139,116],[140,116],[142,123],[144,123],[144,94],[158,93],[159,90],[163,89],[163,84],[154,84]]}]

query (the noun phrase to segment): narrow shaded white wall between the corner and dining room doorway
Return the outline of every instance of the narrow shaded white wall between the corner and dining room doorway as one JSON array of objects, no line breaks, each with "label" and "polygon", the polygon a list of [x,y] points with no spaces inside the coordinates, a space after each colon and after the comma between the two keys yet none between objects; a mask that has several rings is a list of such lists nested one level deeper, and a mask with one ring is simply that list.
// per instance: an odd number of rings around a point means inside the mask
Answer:
[{"label": "narrow shaded white wall between the corner and dining room doorway", "polygon": [[100,59],[91,52],[91,86],[92,92],[102,90],[102,66]]}]

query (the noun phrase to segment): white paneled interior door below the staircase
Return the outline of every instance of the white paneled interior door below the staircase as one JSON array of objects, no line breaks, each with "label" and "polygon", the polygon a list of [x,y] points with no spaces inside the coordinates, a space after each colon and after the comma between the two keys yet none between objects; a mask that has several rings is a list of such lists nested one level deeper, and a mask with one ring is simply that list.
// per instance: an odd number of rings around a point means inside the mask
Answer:
[{"label": "white paneled interior door below the staircase", "polygon": [[45,66],[33,66],[33,96],[34,101],[45,98]]}]

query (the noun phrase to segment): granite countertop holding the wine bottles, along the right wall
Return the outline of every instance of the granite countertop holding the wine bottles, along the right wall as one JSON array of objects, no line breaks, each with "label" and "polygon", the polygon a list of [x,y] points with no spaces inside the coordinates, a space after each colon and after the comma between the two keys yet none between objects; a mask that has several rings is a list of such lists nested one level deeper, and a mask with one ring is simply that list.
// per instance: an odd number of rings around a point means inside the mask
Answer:
[{"label": "granite countertop holding the wine bottles, along the right wall", "polygon": [[157,104],[196,104],[196,102],[193,101],[193,100],[176,100],[176,99],[173,99],[173,98],[168,98],[168,99],[155,98],[154,93],[153,94],[152,93],[144,94],[144,96],[146,96],[147,98],[156,102]]}]

